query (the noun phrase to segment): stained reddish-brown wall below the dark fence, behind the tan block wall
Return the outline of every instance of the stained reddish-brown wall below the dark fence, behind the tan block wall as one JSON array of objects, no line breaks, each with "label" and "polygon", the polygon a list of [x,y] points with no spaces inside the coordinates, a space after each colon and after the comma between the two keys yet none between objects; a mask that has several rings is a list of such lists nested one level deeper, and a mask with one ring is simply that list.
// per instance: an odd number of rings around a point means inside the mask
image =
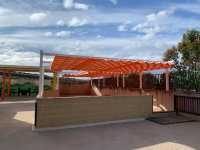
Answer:
[{"label": "stained reddish-brown wall below the dark fence, behind the tan block wall", "polygon": [[200,97],[199,92],[186,92],[186,91],[165,91],[156,89],[136,89],[136,88],[123,88],[123,87],[94,87],[91,88],[92,94],[97,95],[152,95],[153,107],[156,112],[158,111],[174,111],[174,95]]}]

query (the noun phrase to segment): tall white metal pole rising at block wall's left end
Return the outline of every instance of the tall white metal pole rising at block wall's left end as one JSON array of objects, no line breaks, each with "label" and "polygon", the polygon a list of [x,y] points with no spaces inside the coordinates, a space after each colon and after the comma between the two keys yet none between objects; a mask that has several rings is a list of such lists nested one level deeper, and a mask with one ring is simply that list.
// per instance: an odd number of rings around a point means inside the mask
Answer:
[{"label": "tall white metal pole rising at block wall's left end", "polygon": [[39,77],[39,97],[42,97],[43,92],[43,85],[42,85],[42,78],[44,78],[44,75],[42,76],[43,72],[43,50],[40,50],[40,77]]}]

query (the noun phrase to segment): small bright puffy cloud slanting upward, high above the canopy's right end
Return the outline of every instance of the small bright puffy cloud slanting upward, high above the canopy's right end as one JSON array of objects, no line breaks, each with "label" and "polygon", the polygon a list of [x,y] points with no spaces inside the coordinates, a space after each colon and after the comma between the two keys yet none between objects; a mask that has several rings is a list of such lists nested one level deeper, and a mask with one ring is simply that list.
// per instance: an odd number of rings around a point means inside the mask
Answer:
[{"label": "small bright puffy cloud slanting upward, high above the canopy's right end", "polygon": [[157,21],[168,17],[169,15],[174,13],[175,8],[170,8],[166,10],[162,10],[157,14],[152,13],[146,16],[147,21]]}]

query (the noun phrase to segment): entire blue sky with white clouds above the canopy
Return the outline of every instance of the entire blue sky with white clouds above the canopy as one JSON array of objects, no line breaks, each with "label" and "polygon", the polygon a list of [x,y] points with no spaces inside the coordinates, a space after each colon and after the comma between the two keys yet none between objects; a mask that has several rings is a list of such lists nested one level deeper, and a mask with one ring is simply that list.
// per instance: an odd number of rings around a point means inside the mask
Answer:
[{"label": "entire blue sky with white clouds above the canopy", "polygon": [[1,0],[0,64],[39,65],[40,49],[161,60],[187,29],[200,0]]}]

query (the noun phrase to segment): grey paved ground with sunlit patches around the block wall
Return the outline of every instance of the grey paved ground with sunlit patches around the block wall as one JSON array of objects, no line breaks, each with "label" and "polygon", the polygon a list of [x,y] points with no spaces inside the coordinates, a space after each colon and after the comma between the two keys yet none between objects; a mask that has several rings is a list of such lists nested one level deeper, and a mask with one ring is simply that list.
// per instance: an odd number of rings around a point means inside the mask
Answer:
[{"label": "grey paved ground with sunlit patches around the block wall", "polygon": [[150,121],[31,132],[33,98],[0,102],[0,150],[200,149],[200,122],[160,125]]}]

